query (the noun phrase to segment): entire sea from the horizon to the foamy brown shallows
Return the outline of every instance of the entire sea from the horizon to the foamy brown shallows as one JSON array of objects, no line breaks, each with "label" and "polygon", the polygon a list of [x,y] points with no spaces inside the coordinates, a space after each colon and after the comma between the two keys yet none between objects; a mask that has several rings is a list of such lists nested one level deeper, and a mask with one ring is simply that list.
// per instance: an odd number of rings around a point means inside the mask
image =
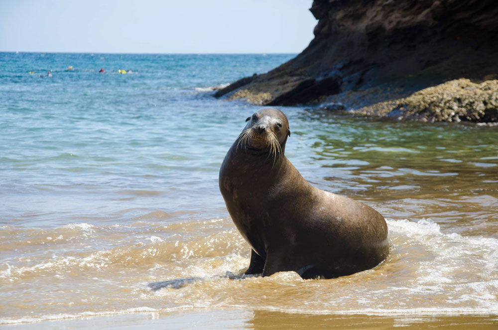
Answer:
[{"label": "entire sea from the horizon to the foamy brown shallows", "polygon": [[259,107],[210,87],[291,57],[0,53],[0,324],[222,311],[227,328],[496,325],[496,127],[282,107],[289,160],[381,212],[391,252],[338,279],[226,277],[249,265],[249,246],[218,170]]}]

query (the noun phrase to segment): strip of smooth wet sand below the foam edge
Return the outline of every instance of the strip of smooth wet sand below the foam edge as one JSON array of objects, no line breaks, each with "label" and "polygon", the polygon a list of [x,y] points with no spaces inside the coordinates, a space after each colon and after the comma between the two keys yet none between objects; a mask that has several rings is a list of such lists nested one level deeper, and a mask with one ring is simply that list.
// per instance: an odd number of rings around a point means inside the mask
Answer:
[{"label": "strip of smooth wet sand below the foam edge", "polygon": [[478,329],[495,330],[498,316],[309,315],[247,310],[193,310],[138,313],[84,319],[3,325],[6,330],[55,329]]}]

